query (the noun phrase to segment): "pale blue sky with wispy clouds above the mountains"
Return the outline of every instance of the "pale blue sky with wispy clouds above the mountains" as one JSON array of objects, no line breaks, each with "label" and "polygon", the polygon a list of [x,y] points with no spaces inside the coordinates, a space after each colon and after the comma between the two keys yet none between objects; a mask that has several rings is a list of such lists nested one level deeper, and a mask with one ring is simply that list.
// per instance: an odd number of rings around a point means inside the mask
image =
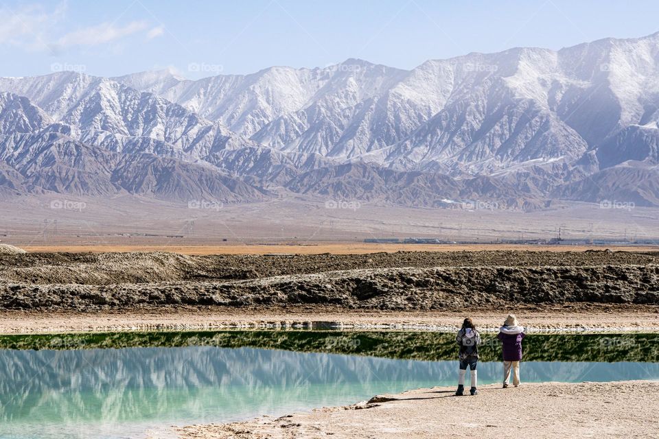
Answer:
[{"label": "pale blue sky with wispy clouds above the mountains", "polygon": [[195,79],[362,58],[402,69],[659,31],[659,1],[3,1],[0,76],[176,69]]}]

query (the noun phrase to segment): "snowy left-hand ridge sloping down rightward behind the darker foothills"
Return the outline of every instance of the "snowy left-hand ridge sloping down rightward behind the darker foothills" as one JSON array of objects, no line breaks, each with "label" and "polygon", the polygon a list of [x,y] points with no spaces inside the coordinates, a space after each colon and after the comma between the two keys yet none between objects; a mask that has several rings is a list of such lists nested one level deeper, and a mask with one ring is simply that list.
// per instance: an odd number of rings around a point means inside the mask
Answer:
[{"label": "snowy left-hand ridge sloping down rightward behind the darker foothills", "polygon": [[72,135],[85,141],[102,137],[93,142],[115,151],[131,143],[135,152],[150,152],[139,150],[143,138],[166,143],[161,153],[196,159],[226,147],[253,145],[220,123],[106,78],[73,72],[0,78],[0,90],[27,97],[55,121],[76,128]]}]

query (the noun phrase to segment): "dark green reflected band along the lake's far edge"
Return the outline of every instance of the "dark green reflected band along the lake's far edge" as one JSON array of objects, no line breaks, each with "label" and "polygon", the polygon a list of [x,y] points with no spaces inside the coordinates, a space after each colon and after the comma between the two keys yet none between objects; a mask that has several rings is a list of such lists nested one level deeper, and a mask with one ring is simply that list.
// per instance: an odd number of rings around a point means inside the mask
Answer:
[{"label": "dark green reflected band along the lake's far edge", "polygon": [[[482,334],[481,361],[500,359],[500,342]],[[185,331],[0,335],[0,349],[89,349],[216,346],[368,355],[393,359],[454,359],[455,336],[428,331]],[[525,361],[659,361],[659,334],[539,334],[524,338]]]}]

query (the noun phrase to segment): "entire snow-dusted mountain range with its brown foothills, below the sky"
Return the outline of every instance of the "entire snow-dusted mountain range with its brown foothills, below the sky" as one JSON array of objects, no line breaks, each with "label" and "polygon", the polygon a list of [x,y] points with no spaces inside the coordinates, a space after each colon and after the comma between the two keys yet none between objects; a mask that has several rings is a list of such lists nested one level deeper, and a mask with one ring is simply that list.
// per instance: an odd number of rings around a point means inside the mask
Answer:
[{"label": "entire snow-dusted mountain range with its brown foothills, below the sky", "polygon": [[185,80],[0,78],[0,193],[659,205],[659,33]]}]

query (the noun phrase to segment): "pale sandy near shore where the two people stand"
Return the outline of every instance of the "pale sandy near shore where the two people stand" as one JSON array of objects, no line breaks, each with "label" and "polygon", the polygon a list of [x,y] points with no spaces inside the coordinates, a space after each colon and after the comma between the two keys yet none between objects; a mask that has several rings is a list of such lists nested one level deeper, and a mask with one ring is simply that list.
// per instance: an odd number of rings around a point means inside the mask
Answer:
[{"label": "pale sandy near shore where the two people stand", "polygon": [[659,382],[484,385],[380,395],[347,407],[176,429],[182,439],[656,438]]}]

